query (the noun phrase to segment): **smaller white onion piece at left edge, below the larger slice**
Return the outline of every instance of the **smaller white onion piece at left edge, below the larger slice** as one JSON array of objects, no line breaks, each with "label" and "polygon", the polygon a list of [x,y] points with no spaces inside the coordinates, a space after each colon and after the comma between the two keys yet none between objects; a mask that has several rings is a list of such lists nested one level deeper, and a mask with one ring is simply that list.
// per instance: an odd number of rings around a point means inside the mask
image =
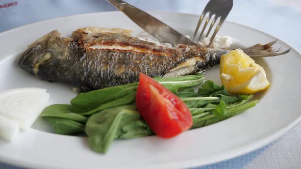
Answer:
[{"label": "smaller white onion piece at left edge, below the larger slice", "polygon": [[19,133],[19,123],[0,115],[0,137],[12,141]]}]

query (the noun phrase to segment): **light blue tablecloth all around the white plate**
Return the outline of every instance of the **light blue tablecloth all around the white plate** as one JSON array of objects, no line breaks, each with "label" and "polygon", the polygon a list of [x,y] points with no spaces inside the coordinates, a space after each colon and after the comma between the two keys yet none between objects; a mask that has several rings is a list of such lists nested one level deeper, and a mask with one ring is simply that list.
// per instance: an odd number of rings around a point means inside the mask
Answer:
[{"label": "light blue tablecloth all around the white plate", "polygon": [[[146,11],[200,14],[208,1],[128,0],[127,2]],[[0,0],[0,32],[50,18],[112,10],[115,9],[104,0]],[[227,20],[268,32],[301,51],[300,0],[234,0],[233,9]],[[300,138],[301,123],[282,138],[259,150],[227,161],[195,168],[301,168]],[[20,169],[21,167],[0,163],[0,168]]]}]

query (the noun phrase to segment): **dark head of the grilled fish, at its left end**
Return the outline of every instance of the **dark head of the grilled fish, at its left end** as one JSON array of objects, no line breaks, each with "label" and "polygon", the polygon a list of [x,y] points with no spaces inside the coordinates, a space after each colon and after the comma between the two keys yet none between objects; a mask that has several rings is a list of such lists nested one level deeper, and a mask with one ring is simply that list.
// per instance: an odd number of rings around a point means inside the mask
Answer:
[{"label": "dark head of the grilled fish, at its left end", "polygon": [[51,64],[63,51],[66,40],[61,38],[61,34],[56,30],[42,36],[28,46],[19,59],[19,67],[36,75],[39,66]]}]

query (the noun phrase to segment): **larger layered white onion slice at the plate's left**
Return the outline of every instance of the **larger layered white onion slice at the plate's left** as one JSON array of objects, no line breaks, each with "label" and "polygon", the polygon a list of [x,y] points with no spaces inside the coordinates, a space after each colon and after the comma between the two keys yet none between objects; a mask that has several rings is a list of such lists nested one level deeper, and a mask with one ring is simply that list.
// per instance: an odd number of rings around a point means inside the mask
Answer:
[{"label": "larger layered white onion slice at the plate's left", "polygon": [[0,92],[0,115],[17,121],[23,130],[29,129],[49,99],[45,89],[21,88]]}]

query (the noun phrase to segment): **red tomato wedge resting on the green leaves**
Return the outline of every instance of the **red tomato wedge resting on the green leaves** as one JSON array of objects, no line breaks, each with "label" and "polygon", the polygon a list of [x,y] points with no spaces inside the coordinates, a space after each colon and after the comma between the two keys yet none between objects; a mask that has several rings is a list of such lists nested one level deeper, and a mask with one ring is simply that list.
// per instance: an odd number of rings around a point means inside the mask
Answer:
[{"label": "red tomato wedge resting on the green leaves", "polygon": [[188,130],[192,125],[187,105],[159,82],[140,73],[136,106],[158,136],[170,138]]}]

